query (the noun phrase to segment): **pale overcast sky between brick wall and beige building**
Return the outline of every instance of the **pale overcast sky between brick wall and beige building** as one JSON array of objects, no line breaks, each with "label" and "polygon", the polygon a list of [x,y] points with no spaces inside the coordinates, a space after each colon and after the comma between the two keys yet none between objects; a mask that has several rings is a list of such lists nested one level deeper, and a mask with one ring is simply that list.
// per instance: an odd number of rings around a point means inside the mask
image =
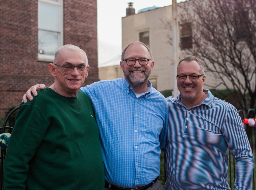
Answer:
[{"label": "pale overcast sky between brick wall and beige building", "polygon": [[146,7],[164,7],[172,4],[172,0],[97,0],[99,67],[119,65],[121,61],[122,17],[126,16],[129,2],[133,2],[135,14]]}]

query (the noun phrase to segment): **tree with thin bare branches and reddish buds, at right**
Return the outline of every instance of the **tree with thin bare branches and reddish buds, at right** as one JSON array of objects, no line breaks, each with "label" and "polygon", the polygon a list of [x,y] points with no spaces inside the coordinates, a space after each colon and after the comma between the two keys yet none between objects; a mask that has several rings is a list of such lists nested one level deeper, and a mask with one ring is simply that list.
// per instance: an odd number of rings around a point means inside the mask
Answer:
[{"label": "tree with thin bare branches and reddish buds, at right", "polygon": [[[182,3],[180,23],[191,23],[186,53],[196,55],[243,109],[255,106],[256,0],[190,0]],[[166,26],[171,26],[165,21]],[[169,36],[169,43],[171,37]],[[182,44],[180,43],[181,48]],[[184,49],[184,48],[183,48]]]}]

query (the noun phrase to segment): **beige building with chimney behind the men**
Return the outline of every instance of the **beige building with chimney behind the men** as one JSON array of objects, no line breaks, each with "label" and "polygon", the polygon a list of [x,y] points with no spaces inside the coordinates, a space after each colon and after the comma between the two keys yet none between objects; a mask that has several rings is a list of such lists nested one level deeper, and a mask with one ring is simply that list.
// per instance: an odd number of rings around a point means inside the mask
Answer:
[{"label": "beige building with chimney behind the men", "polygon": [[[178,12],[181,7],[189,3],[178,3]],[[172,20],[172,5],[165,7],[148,7],[141,9],[134,14],[134,9],[130,3],[126,9],[126,17],[122,18],[122,48],[133,41],[145,43],[152,51],[155,61],[154,68],[150,75],[152,86],[158,91],[171,90],[176,84],[176,67],[173,64],[173,47],[168,43],[167,36],[172,38],[172,31],[166,27],[165,22]],[[131,14],[131,15],[129,15]],[[178,61],[185,56],[181,48],[189,48],[191,43],[191,25],[180,23],[178,20]],[[176,74],[175,74],[176,75]],[[99,78],[101,80],[111,80],[123,77],[122,69],[119,65],[99,68]],[[174,81],[175,80],[175,81]],[[212,80],[207,74],[206,85],[215,85],[216,80]],[[207,86],[205,88],[208,88]]]}]

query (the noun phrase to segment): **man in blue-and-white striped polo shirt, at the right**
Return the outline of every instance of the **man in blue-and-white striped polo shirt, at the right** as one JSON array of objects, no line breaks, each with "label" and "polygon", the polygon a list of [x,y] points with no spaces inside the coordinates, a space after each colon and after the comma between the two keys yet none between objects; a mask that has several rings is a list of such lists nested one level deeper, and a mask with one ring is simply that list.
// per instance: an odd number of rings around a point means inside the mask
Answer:
[{"label": "man in blue-and-white striped polo shirt, at the right", "polygon": [[191,55],[177,66],[180,94],[168,97],[165,190],[230,189],[227,148],[236,159],[235,189],[251,190],[254,158],[236,108],[203,89],[204,68]]}]

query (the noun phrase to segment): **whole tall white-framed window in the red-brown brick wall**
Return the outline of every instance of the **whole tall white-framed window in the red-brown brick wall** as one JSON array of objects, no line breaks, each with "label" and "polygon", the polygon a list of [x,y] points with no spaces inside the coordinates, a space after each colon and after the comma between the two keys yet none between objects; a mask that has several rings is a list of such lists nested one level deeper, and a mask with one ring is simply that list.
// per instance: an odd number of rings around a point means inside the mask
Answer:
[{"label": "whole tall white-framed window in the red-brown brick wall", "polygon": [[63,45],[63,0],[38,0],[38,60],[54,60]]}]

